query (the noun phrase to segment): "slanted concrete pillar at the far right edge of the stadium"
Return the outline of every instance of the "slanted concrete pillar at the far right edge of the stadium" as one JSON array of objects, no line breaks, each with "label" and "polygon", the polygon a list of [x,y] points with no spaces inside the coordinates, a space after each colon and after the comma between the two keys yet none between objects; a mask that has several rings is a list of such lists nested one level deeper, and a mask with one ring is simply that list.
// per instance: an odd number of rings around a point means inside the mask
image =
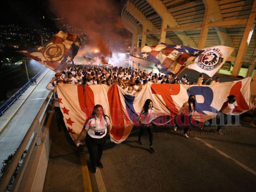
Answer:
[{"label": "slanted concrete pillar at the far right edge of the stadium", "polygon": [[254,24],[255,17],[256,17],[256,0],[254,0],[253,6],[251,9],[251,13],[249,15],[247,25],[246,25],[244,33],[243,33],[243,38],[242,38],[242,41],[241,41],[241,44],[240,44],[240,47],[239,47],[239,50],[238,50],[238,53],[236,56],[233,71],[231,73],[232,76],[237,76],[241,69],[242,61],[243,61],[244,55],[247,51],[247,48],[250,43],[251,36],[253,34],[253,30],[255,27],[255,24]]}]

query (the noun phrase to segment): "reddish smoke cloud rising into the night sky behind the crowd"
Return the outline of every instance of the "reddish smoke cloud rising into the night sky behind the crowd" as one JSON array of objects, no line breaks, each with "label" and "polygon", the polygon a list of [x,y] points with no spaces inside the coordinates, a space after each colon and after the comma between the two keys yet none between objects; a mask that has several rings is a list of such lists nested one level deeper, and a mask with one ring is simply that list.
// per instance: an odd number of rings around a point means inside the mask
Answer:
[{"label": "reddish smoke cloud rising into the night sky behind the crowd", "polygon": [[[127,50],[127,40],[132,38],[121,21],[120,0],[49,0],[50,9],[57,18],[58,24],[68,24],[67,32],[81,29],[88,34],[87,39],[81,39],[82,44],[77,57],[85,54],[105,61],[108,53],[124,53]],[[108,43],[109,40],[109,52]],[[122,45],[122,46],[121,46]],[[76,59],[78,59],[76,57]],[[103,59],[102,59],[103,57]],[[82,61],[82,60],[81,60]]]}]

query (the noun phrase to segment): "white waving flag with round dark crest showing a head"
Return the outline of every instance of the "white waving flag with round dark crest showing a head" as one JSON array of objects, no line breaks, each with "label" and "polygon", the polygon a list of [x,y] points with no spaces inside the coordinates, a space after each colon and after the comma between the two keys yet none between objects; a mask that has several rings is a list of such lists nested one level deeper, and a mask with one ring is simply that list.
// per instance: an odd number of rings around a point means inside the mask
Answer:
[{"label": "white waving flag with round dark crest showing a head", "polygon": [[233,50],[231,47],[222,45],[206,48],[188,68],[212,77],[219,71]]}]

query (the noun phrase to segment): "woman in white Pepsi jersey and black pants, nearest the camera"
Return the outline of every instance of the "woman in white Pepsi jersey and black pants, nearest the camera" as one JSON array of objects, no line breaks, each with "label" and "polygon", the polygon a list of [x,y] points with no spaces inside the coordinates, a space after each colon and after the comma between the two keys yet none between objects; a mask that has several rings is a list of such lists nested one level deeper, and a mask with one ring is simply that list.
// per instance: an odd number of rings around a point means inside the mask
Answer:
[{"label": "woman in white Pepsi jersey and black pants, nearest the camera", "polygon": [[75,142],[79,145],[80,138],[87,133],[85,143],[89,151],[94,173],[97,172],[97,167],[103,168],[100,160],[106,143],[107,132],[110,133],[109,117],[104,114],[103,107],[101,105],[95,105],[92,115],[85,121],[83,130]]}]

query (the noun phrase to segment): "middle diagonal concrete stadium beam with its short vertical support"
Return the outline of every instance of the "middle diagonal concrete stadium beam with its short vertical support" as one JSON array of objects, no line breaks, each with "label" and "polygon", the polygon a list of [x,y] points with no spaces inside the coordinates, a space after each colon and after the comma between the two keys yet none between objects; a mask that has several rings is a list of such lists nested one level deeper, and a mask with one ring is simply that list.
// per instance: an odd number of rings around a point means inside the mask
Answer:
[{"label": "middle diagonal concrete stadium beam with its short vertical support", "polygon": [[[162,18],[162,25],[160,30],[160,39],[159,42],[166,42],[166,31],[167,25],[177,26],[179,25],[174,17],[167,12],[165,5],[160,0],[147,0],[147,2],[154,8],[157,14]],[[186,35],[183,31],[175,31],[176,35],[180,38],[185,46],[196,47],[195,42]],[[143,33],[144,34],[144,33]]]}]

